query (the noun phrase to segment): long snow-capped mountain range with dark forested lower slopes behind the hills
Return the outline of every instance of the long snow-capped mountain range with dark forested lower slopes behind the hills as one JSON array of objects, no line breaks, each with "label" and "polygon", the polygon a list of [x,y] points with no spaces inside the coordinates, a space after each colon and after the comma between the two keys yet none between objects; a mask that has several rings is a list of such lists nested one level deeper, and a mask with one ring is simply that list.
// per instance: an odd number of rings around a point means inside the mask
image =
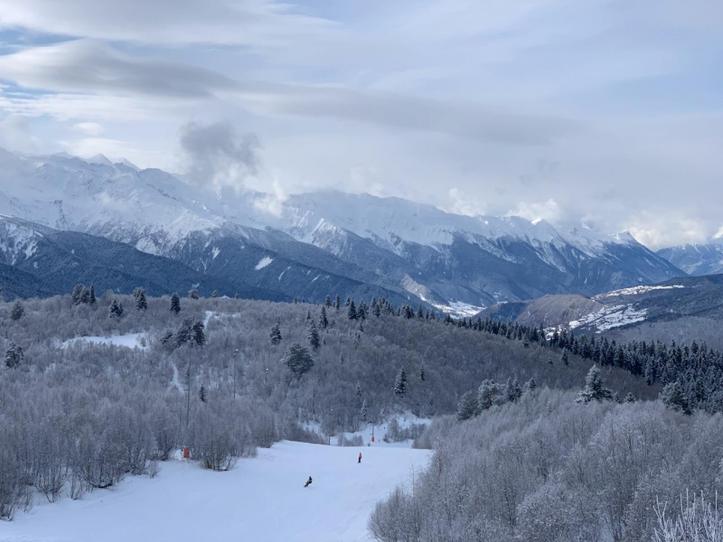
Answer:
[{"label": "long snow-capped mountain range with dark forested lower slopes behind the hills", "polygon": [[[201,284],[262,299],[376,295],[469,315],[499,302],[591,296],[685,275],[627,233],[461,216],[369,194],[276,201],[259,192],[216,193],[102,155],[0,150],[0,214],[5,266],[40,280],[27,288],[38,294],[68,291],[76,278],[89,282],[104,269],[102,284],[118,291],[146,277],[142,284],[158,293]],[[84,257],[68,256],[67,248],[81,250],[74,243],[87,247]],[[117,244],[134,252],[121,257]],[[106,255],[114,251],[134,270],[113,264]],[[70,265],[82,272],[70,273]],[[161,280],[169,273],[175,282]],[[23,280],[14,276],[5,295],[26,295]]]}]

